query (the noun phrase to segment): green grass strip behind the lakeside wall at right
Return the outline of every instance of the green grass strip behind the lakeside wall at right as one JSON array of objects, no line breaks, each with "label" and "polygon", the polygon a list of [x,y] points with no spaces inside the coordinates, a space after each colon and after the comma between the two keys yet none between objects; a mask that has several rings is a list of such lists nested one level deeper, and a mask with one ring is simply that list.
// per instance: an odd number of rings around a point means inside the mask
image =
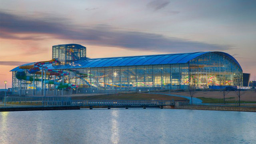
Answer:
[{"label": "green grass strip behind the lakeside wall at right", "polygon": [[[202,100],[203,102],[202,103],[210,103],[210,104],[220,104],[220,103],[223,103],[223,99],[222,98],[205,98],[205,97],[198,97],[200,100]],[[231,97],[231,98],[226,98],[226,99],[233,99],[234,97]],[[225,100],[225,103],[238,103],[238,101],[235,101],[235,100],[228,100],[226,101]],[[240,103],[242,104],[248,104],[248,103],[256,103],[256,102],[246,102],[246,101],[243,101],[241,100]]]}]

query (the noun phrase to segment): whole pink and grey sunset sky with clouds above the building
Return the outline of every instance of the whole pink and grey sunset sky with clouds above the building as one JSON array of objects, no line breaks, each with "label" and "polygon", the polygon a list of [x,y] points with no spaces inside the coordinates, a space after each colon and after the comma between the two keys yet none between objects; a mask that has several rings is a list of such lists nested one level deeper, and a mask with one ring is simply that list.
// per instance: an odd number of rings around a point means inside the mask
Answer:
[{"label": "whole pink and grey sunset sky with clouds above the building", "polygon": [[69,43],[89,58],[227,52],[253,80],[256,0],[0,0],[0,88]]}]

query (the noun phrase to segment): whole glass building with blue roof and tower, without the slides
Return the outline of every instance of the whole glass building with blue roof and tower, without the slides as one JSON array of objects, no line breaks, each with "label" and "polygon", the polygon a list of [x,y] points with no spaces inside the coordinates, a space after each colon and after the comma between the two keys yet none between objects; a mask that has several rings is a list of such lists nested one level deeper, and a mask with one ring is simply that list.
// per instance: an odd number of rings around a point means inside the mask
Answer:
[{"label": "whole glass building with blue roof and tower, without the slides", "polygon": [[[78,86],[76,93],[114,93],[119,91],[150,91],[188,89],[194,86],[208,89],[213,86],[238,86],[242,82],[242,68],[225,52],[193,52],[112,58],[86,58],[86,48],[78,44],[52,47],[52,58],[59,64],[45,64],[48,69],[64,70],[65,83]],[[34,63],[24,64],[29,66]],[[22,94],[41,89],[41,82],[18,80],[19,67],[12,71],[12,91]],[[36,78],[40,78],[36,74]],[[56,76],[46,76],[54,80]],[[53,84],[46,84],[48,93],[55,92]]]}]

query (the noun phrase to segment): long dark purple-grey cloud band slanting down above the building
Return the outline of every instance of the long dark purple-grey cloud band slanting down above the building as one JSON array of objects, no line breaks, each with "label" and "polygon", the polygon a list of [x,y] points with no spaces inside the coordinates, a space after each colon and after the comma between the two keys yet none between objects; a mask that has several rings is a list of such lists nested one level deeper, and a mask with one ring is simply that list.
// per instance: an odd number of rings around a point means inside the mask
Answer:
[{"label": "long dark purple-grey cloud band slanting down above the building", "polygon": [[[35,34],[49,35],[62,40],[82,41],[96,46],[112,46],[130,50],[148,50],[156,52],[195,52],[226,50],[228,45],[208,44],[180,38],[166,37],[150,32],[120,30],[106,25],[76,26],[69,20],[53,18],[38,19],[0,13],[0,37],[8,39],[31,40]],[[17,36],[26,34],[26,36]],[[30,36],[31,34],[32,36]],[[43,38],[42,38],[43,39]]]}]

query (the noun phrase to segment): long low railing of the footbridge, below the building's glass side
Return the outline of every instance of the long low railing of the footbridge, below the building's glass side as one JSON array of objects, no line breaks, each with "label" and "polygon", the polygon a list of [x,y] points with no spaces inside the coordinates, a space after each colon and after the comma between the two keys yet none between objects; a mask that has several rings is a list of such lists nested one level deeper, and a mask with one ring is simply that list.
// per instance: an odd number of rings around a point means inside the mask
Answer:
[{"label": "long low railing of the footbridge, below the building's glass side", "polygon": [[170,106],[172,100],[62,100],[42,101],[43,106]]}]

